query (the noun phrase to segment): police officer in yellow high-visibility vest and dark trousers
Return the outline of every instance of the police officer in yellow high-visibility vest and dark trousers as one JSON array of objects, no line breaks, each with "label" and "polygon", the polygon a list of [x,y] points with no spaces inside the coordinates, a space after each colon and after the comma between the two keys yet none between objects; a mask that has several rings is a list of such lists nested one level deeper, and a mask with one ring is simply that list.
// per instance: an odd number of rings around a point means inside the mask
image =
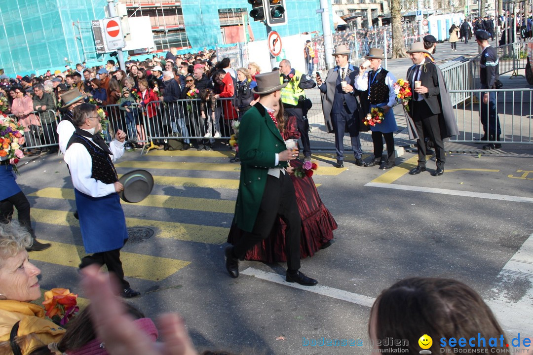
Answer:
[{"label": "police officer in yellow high-visibility vest and dark trousers", "polygon": [[305,92],[312,89],[317,83],[309,75],[290,67],[286,59],[279,63],[280,83],[287,84],[281,89],[281,102],[289,116],[295,116],[298,123],[298,132],[302,139],[304,161],[311,160],[311,144],[309,142],[309,121],[304,118]]}]

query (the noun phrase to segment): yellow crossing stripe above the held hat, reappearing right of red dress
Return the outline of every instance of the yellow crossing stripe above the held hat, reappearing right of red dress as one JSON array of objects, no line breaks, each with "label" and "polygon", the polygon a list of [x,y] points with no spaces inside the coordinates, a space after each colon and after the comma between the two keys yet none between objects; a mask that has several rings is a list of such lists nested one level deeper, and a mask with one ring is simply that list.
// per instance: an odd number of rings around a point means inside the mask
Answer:
[{"label": "yellow crossing stripe above the held hat, reappearing right of red dress", "polygon": [[[206,171],[238,171],[240,164],[230,163],[193,163],[179,161],[123,161],[115,164],[117,168],[135,169],[168,169],[168,170],[206,170]],[[320,166],[314,172],[316,175],[339,175],[346,169],[338,169],[330,166]]]}]

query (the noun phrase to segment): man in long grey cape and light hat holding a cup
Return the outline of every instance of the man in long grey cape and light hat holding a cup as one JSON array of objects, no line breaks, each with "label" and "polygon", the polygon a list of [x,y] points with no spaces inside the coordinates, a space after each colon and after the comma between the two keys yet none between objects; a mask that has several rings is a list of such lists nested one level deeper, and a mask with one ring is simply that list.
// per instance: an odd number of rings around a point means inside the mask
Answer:
[{"label": "man in long grey cape and light hat holding a cup", "polygon": [[407,80],[413,92],[413,98],[409,101],[409,114],[418,134],[418,164],[409,174],[416,175],[426,170],[424,138],[427,133],[435,147],[437,159],[437,169],[433,176],[441,176],[444,174],[446,161],[442,139],[458,134],[450,96],[439,67],[425,57],[424,54],[429,52],[424,48],[423,42],[413,43],[407,53],[414,64],[407,70]]}]

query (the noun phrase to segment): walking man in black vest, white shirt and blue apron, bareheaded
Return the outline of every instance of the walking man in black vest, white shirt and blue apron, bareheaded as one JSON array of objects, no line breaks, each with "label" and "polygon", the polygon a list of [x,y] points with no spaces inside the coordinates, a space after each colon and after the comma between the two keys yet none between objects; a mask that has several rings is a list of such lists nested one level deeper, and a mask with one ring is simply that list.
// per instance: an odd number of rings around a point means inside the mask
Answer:
[{"label": "walking man in black vest, white shirt and blue apron, bareheaded", "polygon": [[120,261],[120,249],[128,233],[118,195],[124,186],[118,181],[113,161],[124,154],[126,134],[118,129],[116,140],[108,146],[100,135],[100,117],[92,104],[79,105],[72,121],[76,131],[68,142],[64,161],[74,185],[85,252],[93,253],[82,258],[79,268],[106,265],[118,278],[120,295],[138,296],[140,293],[124,279]]}]

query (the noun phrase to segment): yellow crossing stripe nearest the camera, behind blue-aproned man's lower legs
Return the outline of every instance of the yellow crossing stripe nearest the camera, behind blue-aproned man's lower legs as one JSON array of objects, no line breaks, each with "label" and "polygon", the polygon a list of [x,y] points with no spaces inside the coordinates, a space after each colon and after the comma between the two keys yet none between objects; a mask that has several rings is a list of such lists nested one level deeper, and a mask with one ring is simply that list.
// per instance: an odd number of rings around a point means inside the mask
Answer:
[{"label": "yellow crossing stripe nearest the camera, behind blue-aproned man's lower legs", "polygon": [[[44,240],[41,242],[49,243]],[[30,253],[30,259],[77,268],[81,262],[80,255],[82,257],[86,255],[83,246],[59,242],[51,243],[52,246],[49,249]],[[190,264],[190,261],[128,252],[120,252],[120,260],[124,268],[124,276],[152,281],[163,280]]]}]

